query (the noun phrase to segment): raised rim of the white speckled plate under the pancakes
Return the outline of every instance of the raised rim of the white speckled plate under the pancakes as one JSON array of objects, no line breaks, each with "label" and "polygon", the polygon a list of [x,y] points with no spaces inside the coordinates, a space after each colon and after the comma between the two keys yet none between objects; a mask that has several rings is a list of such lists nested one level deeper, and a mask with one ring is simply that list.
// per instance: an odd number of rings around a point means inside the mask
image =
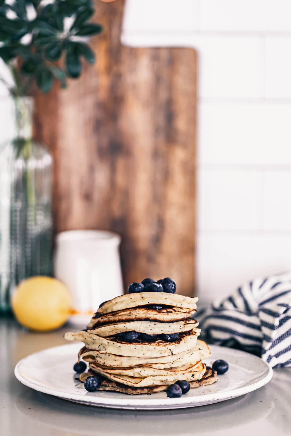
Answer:
[{"label": "raised rim of the white speckled plate under the pancakes", "polygon": [[[257,378],[255,378],[254,382],[250,382],[249,384],[246,381],[246,384],[234,389],[229,389],[224,392],[210,392],[208,394],[202,394],[202,395],[194,395],[194,396],[188,396],[183,395],[181,398],[168,398],[166,395],[164,398],[154,398],[155,395],[158,394],[151,394],[151,398],[147,396],[147,399],[141,398],[144,395],[126,395],[126,394],[119,394],[118,397],[112,398],[107,396],[109,392],[106,391],[99,391],[98,397],[94,396],[95,392],[90,392],[92,394],[91,397],[86,396],[86,400],[84,399],[84,395],[75,394],[73,392],[64,392],[61,389],[57,389],[51,386],[46,385],[44,382],[41,381],[35,381],[29,376],[21,375],[20,367],[21,364],[23,364],[28,358],[31,358],[32,356],[35,358],[38,358],[39,356],[43,355],[44,353],[47,353],[50,350],[57,350],[59,349],[59,355],[62,357],[62,349],[68,350],[69,347],[75,347],[76,344],[65,344],[65,345],[59,345],[58,347],[51,347],[47,348],[42,351],[38,351],[36,353],[30,354],[26,356],[25,358],[21,359],[14,369],[15,377],[18,381],[20,381],[23,385],[32,388],[38,392],[42,392],[48,395],[54,395],[58,398],[62,398],[68,401],[73,401],[81,404],[86,405],[93,405],[93,406],[99,406],[99,407],[108,407],[113,409],[145,409],[145,410],[151,410],[151,409],[178,409],[178,408],[186,408],[186,407],[194,407],[194,406],[200,406],[205,404],[212,404],[215,402],[221,402],[228,399],[236,398],[240,395],[245,395],[248,392],[255,391],[256,389],[261,388],[264,386],[268,381],[271,380],[273,376],[273,370],[269,364],[267,364],[265,361],[263,361],[261,358],[258,358],[257,356],[254,356],[253,354],[246,353],[244,351],[235,350],[232,348],[226,348],[226,347],[219,347],[217,345],[212,345],[211,350],[212,354],[219,354],[221,358],[226,358],[229,360],[231,356],[233,358],[242,357],[250,362],[257,362],[257,364],[263,365],[265,368],[265,372],[262,375],[259,375]],[[225,354],[228,356],[226,357]],[[72,360],[72,366],[75,362],[75,356]],[[231,364],[232,362],[229,361]],[[252,365],[251,365],[252,366]],[[242,367],[243,368],[243,367]],[[231,369],[231,367],[230,367]],[[252,378],[253,379],[253,376]],[[214,384],[215,385],[215,384]],[[214,386],[213,385],[213,386]],[[208,388],[211,388],[210,386],[207,386]],[[201,389],[201,388],[197,388]],[[195,389],[196,391],[196,389]],[[87,393],[89,394],[89,392]],[[101,394],[101,395],[100,395]],[[165,394],[165,392],[164,392]]]}]

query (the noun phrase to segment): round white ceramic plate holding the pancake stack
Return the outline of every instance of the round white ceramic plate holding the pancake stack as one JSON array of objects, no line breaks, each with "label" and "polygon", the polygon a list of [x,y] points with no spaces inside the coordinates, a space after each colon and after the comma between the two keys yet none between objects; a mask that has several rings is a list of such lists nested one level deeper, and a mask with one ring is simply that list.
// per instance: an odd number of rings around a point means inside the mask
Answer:
[{"label": "round white ceramic plate holding the pancake stack", "polygon": [[66,400],[114,409],[176,409],[216,403],[244,395],[264,386],[272,378],[270,365],[243,351],[210,346],[209,366],[224,359],[229,370],[218,376],[213,385],[190,389],[181,398],[168,398],[166,392],[126,395],[120,392],[87,392],[83,383],[75,380],[73,365],[77,361],[80,343],[48,348],[21,359],[15,367],[16,378],[29,388]]}]

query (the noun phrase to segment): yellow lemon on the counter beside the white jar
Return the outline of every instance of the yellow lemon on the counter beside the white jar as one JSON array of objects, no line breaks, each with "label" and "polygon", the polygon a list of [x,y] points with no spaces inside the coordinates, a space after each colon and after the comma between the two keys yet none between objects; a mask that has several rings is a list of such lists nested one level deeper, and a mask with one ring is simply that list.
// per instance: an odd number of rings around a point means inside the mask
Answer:
[{"label": "yellow lemon on the counter beside the white jar", "polygon": [[17,286],[11,297],[17,321],[31,330],[47,331],[61,327],[71,313],[71,298],[57,279],[31,277]]}]

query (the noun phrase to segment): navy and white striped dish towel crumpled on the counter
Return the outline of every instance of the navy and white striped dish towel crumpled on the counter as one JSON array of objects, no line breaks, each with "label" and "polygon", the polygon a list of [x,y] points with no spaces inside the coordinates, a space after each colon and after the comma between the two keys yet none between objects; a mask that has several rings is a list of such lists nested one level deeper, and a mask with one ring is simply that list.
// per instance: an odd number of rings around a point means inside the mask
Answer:
[{"label": "navy and white striped dish towel crumpled on the counter", "polygon": [[253,280],[194,317],[207,341],[291,366],[291,272]]}]

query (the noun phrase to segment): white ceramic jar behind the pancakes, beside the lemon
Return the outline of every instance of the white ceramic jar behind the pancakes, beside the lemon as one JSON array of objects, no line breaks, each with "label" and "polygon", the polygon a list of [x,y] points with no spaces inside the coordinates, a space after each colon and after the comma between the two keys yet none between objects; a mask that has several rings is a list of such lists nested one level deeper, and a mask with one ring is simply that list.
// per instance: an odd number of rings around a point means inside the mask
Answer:
[{"label": "white ceramic jar behind the pancakes, beside the lemon", "polygon": [[99,304],[122,295],[120,235],[101,230],[70,230],[56,236],[55,277],[72,296],[74,324],[84,327]]}]

